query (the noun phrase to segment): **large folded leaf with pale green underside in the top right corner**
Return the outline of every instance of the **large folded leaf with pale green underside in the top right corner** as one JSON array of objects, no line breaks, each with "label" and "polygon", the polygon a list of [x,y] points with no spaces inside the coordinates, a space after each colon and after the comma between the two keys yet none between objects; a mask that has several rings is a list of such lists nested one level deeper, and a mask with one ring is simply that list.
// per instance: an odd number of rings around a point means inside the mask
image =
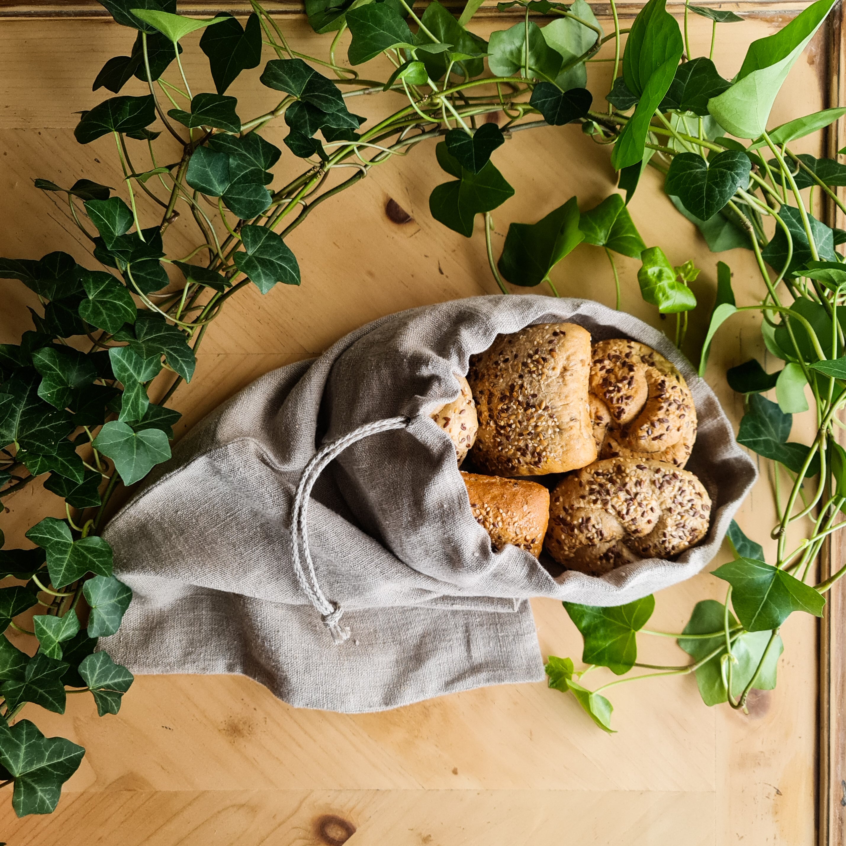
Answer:
[{"label": "large folded leaf with pale green underside in the top right corner", "polygon": [[723,129],[738,138],[761,135],[779,89],[833,4],[817,0],[783,29],[750,44],[732,87],[708,103]]}]

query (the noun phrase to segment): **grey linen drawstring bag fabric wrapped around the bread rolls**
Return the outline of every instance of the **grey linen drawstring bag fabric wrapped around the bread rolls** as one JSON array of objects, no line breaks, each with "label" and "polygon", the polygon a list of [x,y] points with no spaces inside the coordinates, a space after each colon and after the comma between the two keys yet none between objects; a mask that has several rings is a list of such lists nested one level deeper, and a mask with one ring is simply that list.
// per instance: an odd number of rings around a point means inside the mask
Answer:
[{"label": "grey linen drawstring bag fabric wrapped around the bread rolls", "polygon": [[[492,552],[453,444],[429,418],[454,373],[500,332],[574,321],[633,338],[682,371],[699,415],[688,469],[714,508],[675,561],[557,578],[516,547]],[[322,444],[395,416],[407,428],[355,442],[308,510],[316,579],[343,608],[335,645],[294,574],[289,525]],[[755,465],[705,382],[667,338],[584,299],[488,296],[382,317],[319,358],[262,376],[206,417],[107,527],[135,598],[102,648],[135,673],[244,673],[294,706],[379,711],[486,684],[543,677],[529,599],[621,605],[698,573],[717,553]]]}]

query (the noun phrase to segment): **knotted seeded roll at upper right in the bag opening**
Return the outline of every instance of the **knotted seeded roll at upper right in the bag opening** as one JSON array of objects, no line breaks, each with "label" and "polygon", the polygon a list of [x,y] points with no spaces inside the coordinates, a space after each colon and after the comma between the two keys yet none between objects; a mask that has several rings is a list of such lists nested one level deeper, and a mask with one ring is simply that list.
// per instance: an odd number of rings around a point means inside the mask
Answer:
[{"label": "knotted seeded roll at upper right in the bag opening", "polygon": [[601,459],[640,458],[684,467],[696,409],[684,376],[645,343],[593,345],[591,422]]}]

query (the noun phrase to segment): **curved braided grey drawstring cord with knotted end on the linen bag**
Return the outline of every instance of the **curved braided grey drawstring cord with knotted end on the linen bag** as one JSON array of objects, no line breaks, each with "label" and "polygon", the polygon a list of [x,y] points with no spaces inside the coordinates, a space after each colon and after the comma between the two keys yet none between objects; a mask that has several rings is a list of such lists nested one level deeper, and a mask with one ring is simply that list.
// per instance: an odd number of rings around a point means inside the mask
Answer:
[{"label": "curved braided grey drawstring cord with knotted end on the linen bag", "polygon": [[[332,640],[335,641],[336,645],[349,638],[349,626],[341,625],[343,608],[337,602],[330,602],[327,599],[317,581],[315,565],[309,549],[307,525],[311,489],[315,486],[318,476],[327,468],[327,465],[351,444],[370,435],[376,435],[382,431],[392,431],[393,429],[404,429],[408,425],[408,417],[390,417],[387,420],[377,420],[376,423],[365,423],[364,426],[359,426],[349,434],[324,444],[305,465],[302,475],[299,476],[290,524],[291,541],[294,547],[294,574],[296,574],[299,586],[303,589],[305,596],[309,597],[311,604],[320,613],[323,624],[329,629]],[[300,545],[302,546],[302,558],[299,555]],[[305,569],[303,559],[305,559]]]}]

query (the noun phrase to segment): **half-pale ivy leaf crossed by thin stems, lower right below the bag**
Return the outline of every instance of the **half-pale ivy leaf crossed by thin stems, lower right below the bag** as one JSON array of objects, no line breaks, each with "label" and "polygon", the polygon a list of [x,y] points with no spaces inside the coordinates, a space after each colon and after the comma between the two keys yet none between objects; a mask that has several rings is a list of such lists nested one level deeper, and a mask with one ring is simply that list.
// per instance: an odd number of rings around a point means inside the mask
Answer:
[{"label": "half-pale ivy leaf crossed by thin stems, lower right below the bag", "polygon": [[[705,662],[695,670],[696,684],[699,686],[702,701],[707,706],[719,705],[728,701],[726,685],[722,680],[722,656],[725,651],[725,636],[722,634],[724,625],[725,606],[722,602],[713,599],[706,599],[697,602],[688,624],[684,627],[684,634],[709,634],[719,632],[715,638],[679,638],[678,645],[691,656],[695,662],[717,651],[717,654],[710,661]],[[737,625],[734,615],[728,613],[728,624],[730,627]],[[732,654],[737,663],[732,671],[732,696],[736,699],[749,684],[761,657],[766,650],[770,640],[769,632],[751,632],[741,634],[732,644]],[[723,647],[722,649],[720,647]],[[770,650],[766,657],[761,672],[755,680],[755,689],[772,690],[776,686],[776,673],[778,657],[782,654],[783,643],[780,637],[777,638],[777,648]]]}]

